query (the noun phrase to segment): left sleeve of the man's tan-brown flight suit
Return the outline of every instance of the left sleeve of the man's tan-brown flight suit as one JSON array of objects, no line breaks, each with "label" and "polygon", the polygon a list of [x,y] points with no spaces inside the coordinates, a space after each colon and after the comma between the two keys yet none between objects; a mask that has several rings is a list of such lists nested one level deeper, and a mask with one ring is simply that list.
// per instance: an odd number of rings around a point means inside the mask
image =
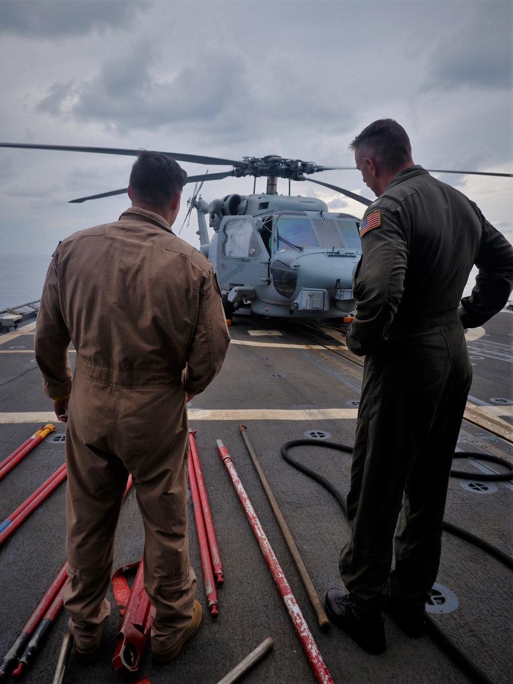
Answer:
[{"label": "left sleeve of the man's tan-brown flight suit", "polygon": [[65,397],[71,392],[70,333],[61,313],[57,268],[57,256],[54,255],[44,282],[34,337],[43,390],[51,399]]}]

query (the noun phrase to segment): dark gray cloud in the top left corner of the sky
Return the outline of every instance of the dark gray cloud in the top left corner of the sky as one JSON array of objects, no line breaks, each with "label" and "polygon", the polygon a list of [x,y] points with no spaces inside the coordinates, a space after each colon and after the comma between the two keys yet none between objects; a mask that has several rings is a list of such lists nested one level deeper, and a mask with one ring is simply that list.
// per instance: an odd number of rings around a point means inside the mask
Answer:
[{"label": "dark gray cloud in the top left corner of the sky", "polygon": [[124,29],[135,13],[148,7],[141,0],[3,0],[0,3],[0,34],[26,38],[84,36],[107,27]]}]

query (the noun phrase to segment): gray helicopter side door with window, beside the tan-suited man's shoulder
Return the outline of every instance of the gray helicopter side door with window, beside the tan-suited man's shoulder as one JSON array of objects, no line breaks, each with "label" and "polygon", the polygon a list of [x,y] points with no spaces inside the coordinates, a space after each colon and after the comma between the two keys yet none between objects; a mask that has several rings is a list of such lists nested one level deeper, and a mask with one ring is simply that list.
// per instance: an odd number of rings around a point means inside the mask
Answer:
[{"label": "gray helicopter side door with window, beside the tan-suited man's shoulder", "polygon": [[217,280],[221,290],[254,288],[267,282],[269,255],[252,216],[223,218],[217,244]]}]

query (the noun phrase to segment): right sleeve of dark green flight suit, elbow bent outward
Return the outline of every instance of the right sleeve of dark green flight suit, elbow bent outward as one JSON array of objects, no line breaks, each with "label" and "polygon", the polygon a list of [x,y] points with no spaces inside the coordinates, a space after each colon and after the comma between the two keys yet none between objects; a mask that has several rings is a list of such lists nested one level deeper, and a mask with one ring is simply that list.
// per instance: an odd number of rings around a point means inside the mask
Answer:
[{"label": "right sleeve of dark green flight suit, elbow bent outward", "polygon": [[482,326],[501,311],[513,288],[513,247],[480,210],[475,209],[482,222],[481,242],[475,259],[479,273],[471,295],[461,300],[460,319],[464,328]]}]

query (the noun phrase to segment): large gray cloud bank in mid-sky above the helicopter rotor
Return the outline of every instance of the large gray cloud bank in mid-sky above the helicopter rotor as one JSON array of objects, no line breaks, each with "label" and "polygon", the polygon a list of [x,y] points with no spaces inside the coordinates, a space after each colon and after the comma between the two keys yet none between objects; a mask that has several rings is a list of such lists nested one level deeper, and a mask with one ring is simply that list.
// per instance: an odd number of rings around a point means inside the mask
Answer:
[{"label": "large gray cloud bank in mid-sky above the helicopter rotor", "polygon": [[315,68],[305,74],[279,49],[268,51],[257,70],[247,52],[210,43],[178,70],[170,66],[171,78],[156,77],[165,59],[141,40],[105,60],[89,81],[53,83],[38,109],[98,121],[120,134],[172,127],[175,133],[195,131],[219,142],[272,135],[273,122],[311,135],[344,133],[357,121],[357,98],[330,92],[326,76]]}]

